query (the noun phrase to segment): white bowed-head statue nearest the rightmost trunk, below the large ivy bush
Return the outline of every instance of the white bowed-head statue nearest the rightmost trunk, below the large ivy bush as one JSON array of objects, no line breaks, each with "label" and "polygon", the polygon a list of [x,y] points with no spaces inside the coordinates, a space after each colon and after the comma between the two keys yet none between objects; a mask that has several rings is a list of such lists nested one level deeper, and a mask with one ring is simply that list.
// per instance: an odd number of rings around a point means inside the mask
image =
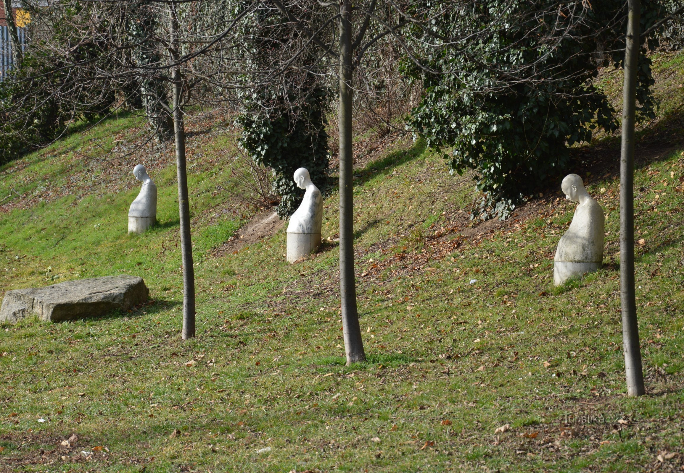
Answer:
[{"label": "white bowed-head statue nearest the rightmost trunk, below the large ivy bush", "polygon": [[584,189],[582,178],[568,174],[561,185],[565,198],[579,202],[570,228],[558,242],[553,258],[553,284],[599,269],[603,263],[603,208]]}]

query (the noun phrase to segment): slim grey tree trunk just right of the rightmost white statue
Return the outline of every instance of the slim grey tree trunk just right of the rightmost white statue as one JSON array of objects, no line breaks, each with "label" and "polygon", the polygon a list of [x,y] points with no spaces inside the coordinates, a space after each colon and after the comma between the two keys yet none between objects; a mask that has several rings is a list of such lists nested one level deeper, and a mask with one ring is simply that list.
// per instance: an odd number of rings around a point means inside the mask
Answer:
[{"label": "slim grey tree trunk just right of the rightmost white statue", "polygon": [[639,61],[640,0],[629,0],[624,49],[622,150],[620,152],[620,306],[627,394],[645,394],[634,295],[634,115]]}]

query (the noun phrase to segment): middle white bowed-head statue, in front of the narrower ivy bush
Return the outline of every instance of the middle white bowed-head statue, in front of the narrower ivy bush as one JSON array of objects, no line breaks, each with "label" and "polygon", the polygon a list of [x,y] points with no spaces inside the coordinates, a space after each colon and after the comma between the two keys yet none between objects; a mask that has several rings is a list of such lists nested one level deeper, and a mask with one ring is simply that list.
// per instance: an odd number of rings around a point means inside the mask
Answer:
[{"label": "middle white bowed-head statue, in front of the narrower ivy bush", "polygon": [[318,187],[313,185],[308,171],[300,167],[295,171],[295,183],[306,189],[304,200],[290,217],[287,226],[287,260],[295,262],[315,252],[321,245],[321,225],[323,224],[323,197]]}]

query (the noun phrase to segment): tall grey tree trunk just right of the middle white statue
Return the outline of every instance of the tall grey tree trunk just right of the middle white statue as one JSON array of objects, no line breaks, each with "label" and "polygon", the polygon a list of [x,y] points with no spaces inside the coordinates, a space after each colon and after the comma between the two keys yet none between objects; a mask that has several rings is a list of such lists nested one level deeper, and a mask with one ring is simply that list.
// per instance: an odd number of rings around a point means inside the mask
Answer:
[{"label": "tall grey tree trunk just right of the middle white statue", "polygon": [[354,186],[352,174],[352,2],[340,1],[340,298],[347,364],[363,362],[361,329],[354,280]]}]

